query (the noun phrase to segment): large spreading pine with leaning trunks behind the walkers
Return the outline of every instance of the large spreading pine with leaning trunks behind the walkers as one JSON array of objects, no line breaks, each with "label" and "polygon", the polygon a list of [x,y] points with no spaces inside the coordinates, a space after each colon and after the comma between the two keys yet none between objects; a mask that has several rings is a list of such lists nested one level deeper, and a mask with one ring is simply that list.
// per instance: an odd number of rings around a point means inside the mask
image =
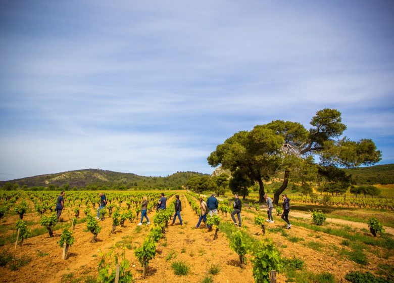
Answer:
[{"label": "large spreading pine with leaning trunks behind the walkers", "polygon": [[[341,120],[339,111],[323,109],[312,118],[309,131],[300,123],[290,121],[276,120],[257,125],[252,131],[238,132],[218,145],[208,157],[208,163],[211,166],[222,164],[232,174],[239,169],[248,170],[250,179],[259,183],[260,202],[264,201],[265,194],[263,180],[283,171],[282,185],[274,194],[273,203],[277,205],[290,176],[302,180],[305,172],[300,166],[313,156],[319,157],[322,166],[346,168],[380,160],[381,153],[371,139],[351,141],[347,137],[339,138],[346,130]],[[305,188],[310,182],[311,179],[304,177]]]}]

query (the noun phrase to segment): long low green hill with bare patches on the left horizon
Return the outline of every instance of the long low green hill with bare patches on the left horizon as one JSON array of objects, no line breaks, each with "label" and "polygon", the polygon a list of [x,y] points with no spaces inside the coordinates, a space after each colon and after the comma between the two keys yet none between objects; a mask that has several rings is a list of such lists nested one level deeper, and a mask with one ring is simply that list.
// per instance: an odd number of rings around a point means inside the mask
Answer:
[{"label": "long low green hill with bare patches on the left horizon", "polygon": [[203,175],[198,172],[176,172],[167,177],[147,177],[139,176],[132,173],[119,173],[101,169],[83,169],[75,171],[67,171],[55,174],[46,174],[33,177],[26,177],[10,181],[0,181],[3,186],[7,182],[17,183],[19,186],[27,187],[44,186],[44,187],[60,187],[67,184],[70,188],[86,187],[86,186],[110,186],[130,188],[172,188],[184,185],[191,176]]}]

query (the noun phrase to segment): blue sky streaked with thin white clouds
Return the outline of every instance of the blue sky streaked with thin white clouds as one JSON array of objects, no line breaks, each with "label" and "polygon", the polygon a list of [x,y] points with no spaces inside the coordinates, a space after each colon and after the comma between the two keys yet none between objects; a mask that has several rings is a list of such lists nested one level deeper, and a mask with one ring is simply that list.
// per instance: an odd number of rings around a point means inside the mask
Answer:
[{"label": "blue sky streaked with thin white clouds", "polygon": [[394,163],[392,1],[0,2],[0,180],[212,173],[226,138],[341,112]]}]

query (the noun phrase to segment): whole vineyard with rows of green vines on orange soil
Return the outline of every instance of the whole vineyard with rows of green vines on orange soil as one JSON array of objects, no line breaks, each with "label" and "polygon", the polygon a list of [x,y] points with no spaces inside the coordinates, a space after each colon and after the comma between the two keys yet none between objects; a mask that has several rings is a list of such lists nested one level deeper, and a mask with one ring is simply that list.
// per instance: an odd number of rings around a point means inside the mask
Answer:
[{"label": "whole vineyard with rows of green vines on orange soil", "polygon": [[[195,228],[200,195],[185,191],[167,192],[167,209],[159,211],[158,191],[108,191],[108,205],[96,219],[98,193],[66,192],[57,222],[59,193],[1,192],[2,282],[114,282],[117,269],[119,282],[265,282],[271,270],[277,271],[277,282],[342,282],[369,275],[392,280],[394,241],[383,227],[379,230],[378,221],[370,223],[376,225],[374,237],[367,230],[325,223],[318,211],[309,220],[291,217],[290,211],[292,226],[285,229],[280,207],[274,223],[266,223],[266,206],[252,196],[242,208],[242,227],[231,220],[232,199],[224,199],[219,215]],[[172,225],[176,194],[183,226],[179,220]],[[137,225],[143,196],[150,225],[146,220]],[[323,205],[321,199],[292,196],[291,201]],[[390,199],[356,200],[331,197],[324,205],[392,211]]]}]

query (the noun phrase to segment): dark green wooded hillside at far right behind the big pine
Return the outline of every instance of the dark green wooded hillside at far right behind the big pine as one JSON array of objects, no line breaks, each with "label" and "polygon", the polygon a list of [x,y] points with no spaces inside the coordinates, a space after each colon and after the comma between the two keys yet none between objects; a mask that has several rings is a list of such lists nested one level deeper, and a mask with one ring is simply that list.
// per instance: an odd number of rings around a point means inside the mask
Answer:
[{"label": "dark green wooded hillside at far right behind the big pine", "polygon": [[394,164],[344,169],[356,184],[394,184]]}]

